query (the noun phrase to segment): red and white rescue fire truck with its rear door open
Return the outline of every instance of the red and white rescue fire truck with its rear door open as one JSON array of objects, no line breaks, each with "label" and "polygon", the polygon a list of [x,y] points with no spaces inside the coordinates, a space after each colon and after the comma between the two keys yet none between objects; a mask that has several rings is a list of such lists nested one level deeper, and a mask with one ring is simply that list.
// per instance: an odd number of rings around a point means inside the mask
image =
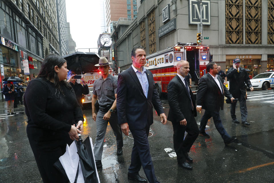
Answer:
[{"label": "red and white rescue fire truck with its rear door open", "polygon": [[211,61],[209,47],[196,43],[177,43],[165,50],[158,51],[146,57],[145,68],[153,74],[153,79],[159,93],[167,93],[168,83],[177,74],[176,64],[180,60],[189,62],[192,76],[192,92],[196,94],[200,77],[205,75],[206,65]]}]

